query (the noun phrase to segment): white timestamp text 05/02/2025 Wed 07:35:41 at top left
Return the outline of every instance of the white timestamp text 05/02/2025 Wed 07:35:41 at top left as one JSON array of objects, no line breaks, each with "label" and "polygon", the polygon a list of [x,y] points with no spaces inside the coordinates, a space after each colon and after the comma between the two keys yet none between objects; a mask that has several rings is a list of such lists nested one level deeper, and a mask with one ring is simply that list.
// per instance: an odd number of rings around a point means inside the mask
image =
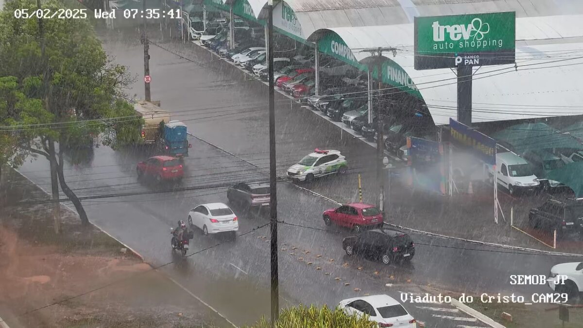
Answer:
[{"label": "white timestamp text 05/02/2025 Wed 07:35:41 at top left", "polygon": [[[86,19],[91,15],[89,9],[33,9],[20,8],[15,9],[14,17],[16,19]],[[145,11],[139,9],[120,9],[117,11],[104,11],[103,9],[95,9],[93,17],[97,19],[160,19],[181,18],[182,13],[180,9],[168,9],[167,11],[161,9],[146,9]]]}]

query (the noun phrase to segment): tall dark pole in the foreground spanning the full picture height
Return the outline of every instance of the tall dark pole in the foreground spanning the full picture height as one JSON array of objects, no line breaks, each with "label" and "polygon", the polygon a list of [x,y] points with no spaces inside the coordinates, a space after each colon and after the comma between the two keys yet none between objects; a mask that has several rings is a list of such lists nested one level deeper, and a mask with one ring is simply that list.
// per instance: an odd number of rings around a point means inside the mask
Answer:
[{"label": "tall dark pole in the foreground spanning the full picture height", "polygon": [[269,78],[269,220],[271,222],[271,326],[279,317],[278,270],[278,184],[275,164],[275,94],[273,86],[273,0],[268,1],[267,18],[268,78]]}]

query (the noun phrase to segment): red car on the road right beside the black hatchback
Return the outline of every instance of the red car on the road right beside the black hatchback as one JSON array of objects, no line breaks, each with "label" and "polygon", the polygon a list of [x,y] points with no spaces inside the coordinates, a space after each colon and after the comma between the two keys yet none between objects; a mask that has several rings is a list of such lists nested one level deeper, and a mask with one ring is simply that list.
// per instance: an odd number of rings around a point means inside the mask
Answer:
[{"label": "red car on the road right beside the black hatchback", "polygon": [[334,222],[340,226],[347,226],[358,233],[365,226],[382,226],[382,213],[374,205],[367,203],[350,203],[339,208],[331,208],[322,215],[324,224]]}]

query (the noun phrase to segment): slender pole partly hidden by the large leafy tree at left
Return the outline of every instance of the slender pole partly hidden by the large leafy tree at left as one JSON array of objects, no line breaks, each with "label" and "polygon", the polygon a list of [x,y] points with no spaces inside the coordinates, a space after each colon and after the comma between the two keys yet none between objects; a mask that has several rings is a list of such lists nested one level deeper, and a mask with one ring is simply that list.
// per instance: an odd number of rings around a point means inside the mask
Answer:
[{"label": "slender pole partly hidden by the large leafy tree at left", "polygon": [[[41,11],[40,0],[37,0],[37,9]],[[38,24],[38,41],[40,43],[40,57],[42,62],[43,72],[43,85],[44,85],[44,100],[45,106],[47,106],[47,111],[50,111],[50,85],[49,85],[49,68],[48,60],[45,55],[45,44],[44,44],[44,24],[43,19],[37,19]],[[54,220],[54,230],[55,233],[61,232],[61,204],[59,203],[59,177],[57,176],[57,162],[54,156],[55,154],[55,141],[51,138],[47,138],[48,143],[48,153],[49,153],[49,164],[51,168],[51,193],[52,200],[54,204],[52,205],[52,218]]]}]

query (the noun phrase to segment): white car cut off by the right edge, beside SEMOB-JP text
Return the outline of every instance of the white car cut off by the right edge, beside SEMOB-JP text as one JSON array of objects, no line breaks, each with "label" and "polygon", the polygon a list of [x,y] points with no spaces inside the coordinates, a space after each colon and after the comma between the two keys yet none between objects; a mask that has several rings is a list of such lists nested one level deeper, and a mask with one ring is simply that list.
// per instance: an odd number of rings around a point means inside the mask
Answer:
[{"label": "white car cut off by the right edge, beside SEMOB-JP text", "polygon": [[549,287],[555,292],[576,298],[583,292],[583,262],[557,264],[550,268]]}]

